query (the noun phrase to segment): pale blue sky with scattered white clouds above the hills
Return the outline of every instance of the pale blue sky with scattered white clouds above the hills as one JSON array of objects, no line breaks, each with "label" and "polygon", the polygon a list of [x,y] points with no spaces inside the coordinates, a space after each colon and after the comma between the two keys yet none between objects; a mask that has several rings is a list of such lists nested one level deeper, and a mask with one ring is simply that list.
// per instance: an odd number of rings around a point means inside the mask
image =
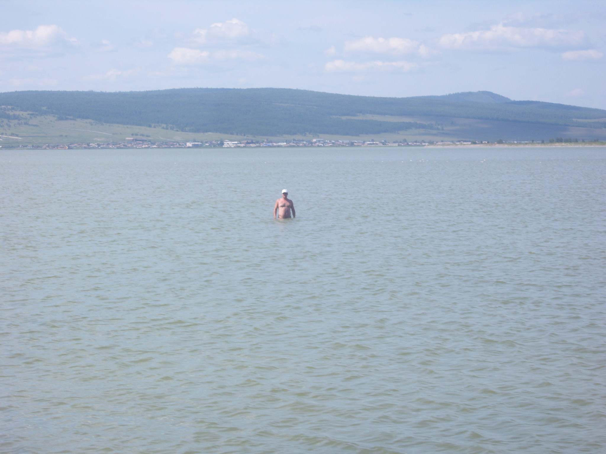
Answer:
[{"label": "pale blue sky with scattered white clouds above the hills", "polygon": [[0,91],[488,90],[606,109],[606,2],[0,0]]}]

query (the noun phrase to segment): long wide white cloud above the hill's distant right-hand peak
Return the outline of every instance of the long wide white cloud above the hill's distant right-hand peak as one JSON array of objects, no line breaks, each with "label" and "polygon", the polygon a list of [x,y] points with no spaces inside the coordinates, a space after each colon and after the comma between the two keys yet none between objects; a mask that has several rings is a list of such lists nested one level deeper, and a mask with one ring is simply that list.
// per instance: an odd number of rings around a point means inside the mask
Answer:
[{"label": "long wide white cloud above the hill's distant right-hand peak", "polygon": [[513,48],[570,48],[585,41],[582,31],[554,28],[507,27],[503,23],[490,30],[443,35],[439,45],[445,49],[503,50]]}]

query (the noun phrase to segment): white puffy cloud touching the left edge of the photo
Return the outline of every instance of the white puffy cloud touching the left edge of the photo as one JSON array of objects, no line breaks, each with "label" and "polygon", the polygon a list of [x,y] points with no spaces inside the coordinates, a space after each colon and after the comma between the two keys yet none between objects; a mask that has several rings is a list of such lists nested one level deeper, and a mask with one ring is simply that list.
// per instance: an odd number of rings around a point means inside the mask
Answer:
[{"label": "white puffy cloud touching the left edge of the photo", "polygon": [[58,25],[40,25],[36,30],[11,30],[0,32],[0,48],[16,51],[19,55],[32,51],[47,54],[48,51],[73,48],[78,44],[76,38],[69,38]]}]

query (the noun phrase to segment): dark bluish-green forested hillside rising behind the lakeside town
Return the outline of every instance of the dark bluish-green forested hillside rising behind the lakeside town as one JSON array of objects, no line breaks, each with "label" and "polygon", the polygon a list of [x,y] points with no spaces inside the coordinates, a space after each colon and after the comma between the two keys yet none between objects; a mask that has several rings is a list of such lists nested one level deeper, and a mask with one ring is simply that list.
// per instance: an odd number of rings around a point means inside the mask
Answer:
[{"label": "dark bluish-green forested hillside rising behind the lakeside town", "polygon": [[59,119],[79,118],[196,133],[259,136],[358,136],[441,128],[436,122],[341,118],[369,114],[606,127],[606,110],[512,101],[488,91],[405,98],[351,96],[287,88],[180,88],[118,93],[15,91],[0,93],[0,105],[19,111],[52,114]]}]

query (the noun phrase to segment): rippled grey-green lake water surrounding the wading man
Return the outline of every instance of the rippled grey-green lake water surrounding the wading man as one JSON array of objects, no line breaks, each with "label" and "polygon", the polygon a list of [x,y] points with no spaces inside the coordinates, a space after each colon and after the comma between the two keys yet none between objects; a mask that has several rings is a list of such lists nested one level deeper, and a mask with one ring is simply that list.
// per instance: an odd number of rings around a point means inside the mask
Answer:
[{"label": "rippled grey-green lake water surrounding the wading man", "polygon": [[0,165],[3,453],[606,452],[606,148]]}]

